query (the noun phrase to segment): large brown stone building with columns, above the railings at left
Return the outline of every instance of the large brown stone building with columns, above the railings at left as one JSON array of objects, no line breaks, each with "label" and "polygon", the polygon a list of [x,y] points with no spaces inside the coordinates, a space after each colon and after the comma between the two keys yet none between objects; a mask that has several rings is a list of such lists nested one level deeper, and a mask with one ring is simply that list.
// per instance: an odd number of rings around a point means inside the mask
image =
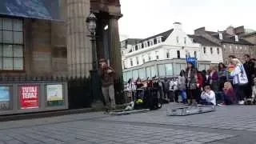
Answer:
[{"label": "large brown stone building with columns, above the railings at left", "polygon": [[[3,0],[0,5],[18,10],[0,10],[0,74],[88,77],[92,48],[86,17],[94,12],[98,18],[98,58],[109,59],[118,76],[122,76],[118,34],[118,18],[122,14],[118,0],[44,0],[21,4]],[[24,7],[28,10],[23,10]],[[28,14],[29,10],[36,13]],[[104,29],[106,26],[108,29]]]}]

